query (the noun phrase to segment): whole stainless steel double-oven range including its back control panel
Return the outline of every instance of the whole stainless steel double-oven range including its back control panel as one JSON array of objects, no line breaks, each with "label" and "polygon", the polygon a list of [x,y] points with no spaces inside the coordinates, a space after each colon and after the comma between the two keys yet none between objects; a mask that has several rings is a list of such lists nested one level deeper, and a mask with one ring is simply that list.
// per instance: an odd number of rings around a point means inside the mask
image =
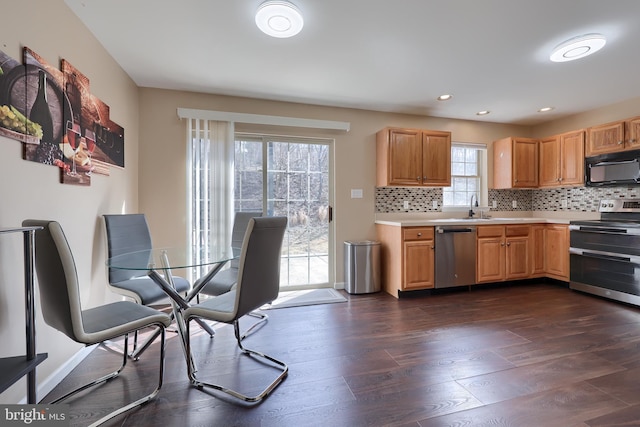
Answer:
[{"label": "whole stainless steel double-oven range including its back control panel", "polygon": [[569,225],[570,287],[640,306],[640,199],[602,200],[599,211]]}]

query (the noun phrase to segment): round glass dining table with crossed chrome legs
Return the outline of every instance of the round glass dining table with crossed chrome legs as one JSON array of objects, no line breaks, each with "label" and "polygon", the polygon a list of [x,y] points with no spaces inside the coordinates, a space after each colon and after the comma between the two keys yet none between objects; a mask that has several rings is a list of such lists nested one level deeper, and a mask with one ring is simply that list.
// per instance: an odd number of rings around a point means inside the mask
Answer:
[{"label": "round glass dining table with crossed chrome legs", "polygon": [[[153,282],[160,286],[167,294],[171,302],[173,316],[176,322],[178,335],[187,364],[193,365],[193,359],[187,351],[186,326],[182,312],[191,306],[191,301],[198,295],[207,282],[222,269],[227,262],[234,259],[233,250],[203,256],[199,260],[190,261],[188,250],[184,248],[154,248],[136,252],[129,252],[107,259],[107,266],[117,270],[141,270],[146,271]],[[187,293],[181,295],[175,290],[172,270],[178,269],[208,269],[208,272]],[[214,335],[213,329],[204,321],[197,319],[200,326],[210,335]],[[148,340],[151,342],[152,340]],[[144,349],[139,349],[142,352]]]}]

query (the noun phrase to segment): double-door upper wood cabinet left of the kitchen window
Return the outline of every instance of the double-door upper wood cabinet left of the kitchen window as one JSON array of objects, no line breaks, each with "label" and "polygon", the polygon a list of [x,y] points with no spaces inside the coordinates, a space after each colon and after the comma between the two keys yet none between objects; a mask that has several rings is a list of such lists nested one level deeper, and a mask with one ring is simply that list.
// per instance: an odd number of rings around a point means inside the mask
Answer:
[{"label": "double-door upper wood cabinet left of the kitchen window", "polygon": [[376,144],[376,186],[451,185],[451,132],[385,128]]}]

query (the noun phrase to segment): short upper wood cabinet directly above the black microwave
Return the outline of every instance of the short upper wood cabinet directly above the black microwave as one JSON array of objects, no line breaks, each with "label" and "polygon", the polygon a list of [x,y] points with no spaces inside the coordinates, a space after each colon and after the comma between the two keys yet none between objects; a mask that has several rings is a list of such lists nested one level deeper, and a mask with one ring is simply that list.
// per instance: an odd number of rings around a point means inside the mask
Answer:
[{"label": "short upper wood cabinet directly above the black microwave", "polygon": [[640,117],[587,129],[587,156],[640,148]]}]

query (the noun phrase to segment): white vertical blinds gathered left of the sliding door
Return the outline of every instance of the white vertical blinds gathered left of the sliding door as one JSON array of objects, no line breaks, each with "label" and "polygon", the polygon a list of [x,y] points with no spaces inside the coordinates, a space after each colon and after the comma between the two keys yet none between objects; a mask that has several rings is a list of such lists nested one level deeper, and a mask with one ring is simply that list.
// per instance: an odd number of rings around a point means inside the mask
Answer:
[{"label": "white vertical blinds gathered left of the sliding door", "polygon": [[206,254],[221,257],[231,245],[235,135],[233,122],[189,119],[187,127],[189,247],[197,262]]}]

